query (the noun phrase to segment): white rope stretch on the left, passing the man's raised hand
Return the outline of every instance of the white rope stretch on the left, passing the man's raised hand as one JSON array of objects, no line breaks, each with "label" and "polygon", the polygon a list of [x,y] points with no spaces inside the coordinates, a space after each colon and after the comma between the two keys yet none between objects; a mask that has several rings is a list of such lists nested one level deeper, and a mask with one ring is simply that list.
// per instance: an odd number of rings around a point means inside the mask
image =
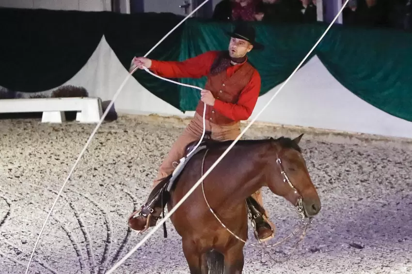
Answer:
[{"label": "white rope stretch on the left, passing the man's raised hand", "polygon": [[[200,9],[204,4],[206,4],[206,2],[208,2],[209,0],[205,0],[202,4],[200,4],[196,9],[194,9],[190,14],[188,14],[182,21],[180,21],[173,29],[171,29],[156,45],[154,45],[145,55],[144,57],[148,56],[161,42],[163,42],[163,40],[166,39],[167,36],[169,36],[175,29],[177,29],[177,27],[179,27],[184,21],[186,21],[192,14],[194,14],[198,9]],[[133,69],[131,72],[129,72],[129,74],[127,75],[126,79],[123,81],[122,85],[120,85],[119,89],[116,91],[116,93],[114,94],[113,98],[111,99],[110,104],[108,105],[106,111],[103,113],[102,117],[100,118],[100,121],[98,122],[97,126],[95,127],[95,130],[93,130],[92,134],[89,137],[89,140],[87,140],[86,144],[84,145],[83,149],[81,150],[79,157],[77,158],[75,164],[73,165],[72,169],[70,170],[69,174],[66,177],[66,180],[63,183],[62,188],[60,189],[59,193],[57,194],[56,199],[53,202],[53,205],[50,208],[50,211],[48,212],[48,216],[46,217],[46,220],[43,224],[43,227],[39,233],[39,236],[37,237],[36,243],[34,244],[34,248],[32,251],[32,255],[30,256],[30,260],[29,263],[27,264],[27,269],[26,269],[26,274],[29,272],[29,267],[30,267],[30,263],[32,262],[33,259],[33,255],[34,255],[34,251],[36,250],[37,244],[39,243],[40,237],[46,227],[48,218],[51,215],[51,212],[53,211],[54,207],[56,206],[57,200],[59,199],[60,195],[63,192],[63,188],[65,187],[65,185],[67,184],[70,176],[72,175],[74,169],[76,168],[76,166],[78,165],[80,158],[83,156],[84,152],[86,151],[87,146],[90,144],[90,142],[92,141],[93,137],[95,136],[97,130],[99,129],[100,125],[103,123],[104,118],[106,117],[106,115],[109,113],[111,106],[114,104],[114,101],[117,99],[117,96],[119,96],[120,91],[122,90],[122,88],[125,86],[127,80],[130,78],[130,76],[137,70],[137,67],[135,69]],[[206,109],[206,106],[205,106]]]}]

